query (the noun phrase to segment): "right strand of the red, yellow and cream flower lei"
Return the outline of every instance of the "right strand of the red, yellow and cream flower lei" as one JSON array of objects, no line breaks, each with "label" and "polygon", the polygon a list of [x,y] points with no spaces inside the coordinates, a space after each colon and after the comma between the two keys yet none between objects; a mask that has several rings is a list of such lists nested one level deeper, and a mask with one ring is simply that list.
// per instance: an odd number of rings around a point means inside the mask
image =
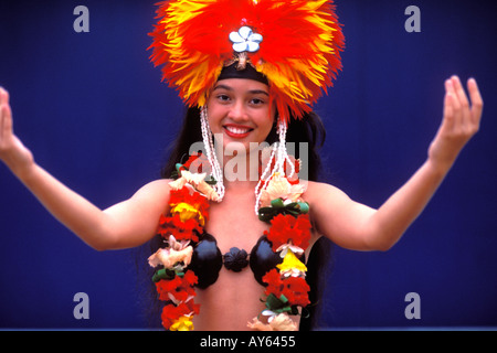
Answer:
[{"label": "right strand of the red, yellow and cream flower lei", "polygon": [[309,205],[300,199],[304,191],[298,180],[289,181],[278,172],[271,176],[262,191],[258,218],[271,224],[269,231],[264,234],[272,243],[273,252],[279,253],[283,263],[263,277],[267,284],[267,297],[262,315],[268,317],[268,323],[264,324],[257,317],[248,323],[252,329],[295,331],[298,325],[290,315],[302,314],[302,309],[310,303],[310,288],[305,279],[307,267],[300,261],[309,246],[311,229]]}]

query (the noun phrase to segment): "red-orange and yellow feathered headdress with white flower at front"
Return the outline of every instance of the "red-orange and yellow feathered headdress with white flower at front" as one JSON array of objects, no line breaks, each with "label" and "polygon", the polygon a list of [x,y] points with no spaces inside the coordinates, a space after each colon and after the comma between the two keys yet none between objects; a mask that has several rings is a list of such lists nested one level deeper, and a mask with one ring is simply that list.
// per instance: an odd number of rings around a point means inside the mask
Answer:
[{"label": "red-orange and yellow feathered headdress with white flower at front", "polygon": [[150,60],[189,106],[204,106],[225,65],[252,65],[285,119],[300,118],[341,69],[332,1],[171,0],[158,3]]}]

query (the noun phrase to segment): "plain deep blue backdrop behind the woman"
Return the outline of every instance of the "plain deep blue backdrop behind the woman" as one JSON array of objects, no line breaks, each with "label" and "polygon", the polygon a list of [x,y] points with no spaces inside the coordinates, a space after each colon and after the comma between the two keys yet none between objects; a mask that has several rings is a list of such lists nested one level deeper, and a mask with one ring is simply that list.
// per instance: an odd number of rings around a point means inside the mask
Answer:
[{"label": "plain deep blue backdrop behind the woman", "polygon": [[[159,176],[183,107],[148,61],[155,1],[2,1],[0,85],[36,161],[101,207]],[[73,10],[89,9],[89,33]],[[497,325],[496,2],[337,0],[343,72],[316,107],[325,180],[370,206],[426,158],[444,79],[477,78],[482,130],[387,253],[334,249],[322,328]],[[421,33],[404,10],[421,9]],[[84,245],[0,164],[0,328],[147,328],[145,249]],[[76,320],[77,292],[89,319]],[[408,320],[404,297],[421,297]]]}]

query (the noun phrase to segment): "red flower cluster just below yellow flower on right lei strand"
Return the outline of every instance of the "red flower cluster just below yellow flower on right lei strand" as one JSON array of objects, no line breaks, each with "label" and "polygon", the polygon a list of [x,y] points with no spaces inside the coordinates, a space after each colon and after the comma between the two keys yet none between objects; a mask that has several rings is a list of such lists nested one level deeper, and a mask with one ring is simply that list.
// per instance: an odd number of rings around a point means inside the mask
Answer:
[{"label": "red flower cluster just below yellow flower on right lei strand", "polygon": [[290,306],[306,307],[310,303],[308,296],[310,287],[302,277],[282,278],[277,269],[272,269],[263,277],[263,281],[268,285],[266,296],[273,293],[279,298],[283,295]]}]

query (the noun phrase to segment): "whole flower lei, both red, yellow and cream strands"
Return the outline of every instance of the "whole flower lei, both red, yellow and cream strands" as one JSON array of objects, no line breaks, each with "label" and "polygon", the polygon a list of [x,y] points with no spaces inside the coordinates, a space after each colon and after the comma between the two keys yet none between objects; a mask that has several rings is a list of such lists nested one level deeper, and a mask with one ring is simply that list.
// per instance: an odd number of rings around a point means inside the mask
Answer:
[{"label": "whole flower lei, both red, yellow and cream strands", "polygon": [[[204,181],[205,173],[189,171],[190,164],[199,158],[201,156],[191,156],[187,163],[177,164],[180,178],[170,183],[170,211],[160,216],[157,231],[165,247],[148,259],[156,268],[152,280],[159,300],[166,302],[162,325],[171,331],[193,330],[193,315],[200,312],[200,304],[194,303],[198,277],[188,266],[209,220],[209,201],[218,200],[218,195]],[[267,284],[266,309],[261,314],[268,317],[267,323],[260,321],[260,314],[248,322],[251,329],[297,330],[290,315],[302,314],[302,309],[309,304],[307,268],[299,259],[309,245],[311,228],[308,204],[300,199],[304,191],[298,180],[289,181],[277,172],[262,191],[258,217],[271,224],[264,235],[283,261],[263,277]]]}]

